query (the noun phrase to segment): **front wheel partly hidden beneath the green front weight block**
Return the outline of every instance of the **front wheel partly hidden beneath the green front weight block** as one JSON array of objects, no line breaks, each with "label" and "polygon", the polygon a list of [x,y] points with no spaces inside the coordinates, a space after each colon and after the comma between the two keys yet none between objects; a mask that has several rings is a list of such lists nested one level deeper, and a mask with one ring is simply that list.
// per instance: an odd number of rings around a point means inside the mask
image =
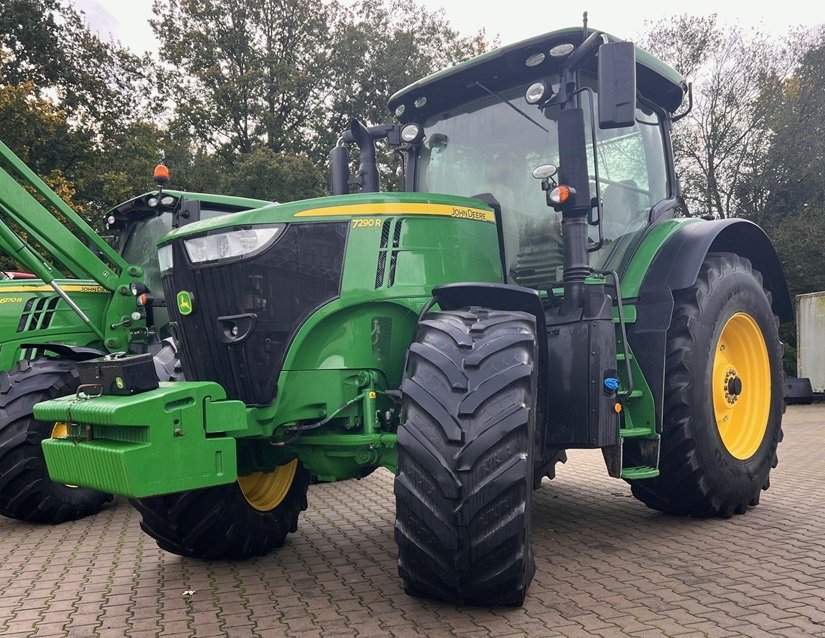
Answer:
[{"label": "front wheel partly hidden beneath the green front weight block", "polygon": [[[281,486],[274,487],[283,494],[272,494],[271,499],[260,489],[245,495],[235,482],[130,502],[141,514],[141,529],[167,552],[230,560],[263,556],[298,529],[298,516],[307,508],[309,472],[294,463],[289,484],[280,481]],[[266,481],[258,486],[267,489]]]}]

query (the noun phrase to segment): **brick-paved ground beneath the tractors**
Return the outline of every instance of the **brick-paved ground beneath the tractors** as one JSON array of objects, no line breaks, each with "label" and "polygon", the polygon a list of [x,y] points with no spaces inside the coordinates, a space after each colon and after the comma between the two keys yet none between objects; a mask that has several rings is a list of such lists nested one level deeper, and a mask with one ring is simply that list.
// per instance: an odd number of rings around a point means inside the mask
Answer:
[{"label": "brick-paved ground beneath the tractors", "polygon": [[790,407],[785,433],[762,504],[729,520],[657,514],[573,452],[536,493],[521,609],[402,592],[385,472],[312,486],[298,533],[243,563],[159,550],[122,501],[57,527],[0,519],[0,634],[825,636],[825,405]]}]

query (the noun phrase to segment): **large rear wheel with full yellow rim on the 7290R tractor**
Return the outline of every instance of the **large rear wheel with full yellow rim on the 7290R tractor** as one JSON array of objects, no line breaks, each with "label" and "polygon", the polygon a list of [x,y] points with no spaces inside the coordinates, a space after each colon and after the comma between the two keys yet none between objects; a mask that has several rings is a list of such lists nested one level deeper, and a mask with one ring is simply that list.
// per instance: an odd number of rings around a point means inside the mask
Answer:
[{"label": "large rear wheel with full yellow rim on the 7290R tractor", "polygon": [[782,440],[782,345],[762,276],[710,253],[675,294],[660,476],[633,495],[669,514],[729,517],[759,503]]}]

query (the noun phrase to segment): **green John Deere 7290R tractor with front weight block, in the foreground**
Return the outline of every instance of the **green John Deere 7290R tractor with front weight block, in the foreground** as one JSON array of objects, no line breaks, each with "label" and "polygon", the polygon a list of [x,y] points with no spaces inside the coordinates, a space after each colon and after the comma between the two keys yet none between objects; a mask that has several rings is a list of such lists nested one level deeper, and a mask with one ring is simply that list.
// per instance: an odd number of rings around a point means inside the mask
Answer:
[{"label": "green John Deere 7290R tractor with front weight block, in the foreground", "polygon": [[[776,464],[791,304],[757,226],[686,216],[686,91],[582,29],[400,91],[397,123],[342,134],[334,196],[159,242],[189,381],[105,392],[141,375],[125,360],[87,372],[102,396],[38,405],[66,423],[51,476],[131,497],[165,550],[240,558],[295,531],[311,475],[385,467],[406,591],[483,605],[523,601],[531,490],[568,448],[658,510],[744,513]],[[378,139],[402,192],[378,192]]]}]

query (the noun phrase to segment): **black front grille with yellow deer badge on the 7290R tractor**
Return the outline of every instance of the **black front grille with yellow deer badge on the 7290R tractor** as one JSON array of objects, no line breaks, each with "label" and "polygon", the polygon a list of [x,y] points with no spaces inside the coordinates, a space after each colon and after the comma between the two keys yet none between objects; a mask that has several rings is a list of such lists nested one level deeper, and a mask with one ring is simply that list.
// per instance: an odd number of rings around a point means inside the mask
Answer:
[{"label": "black front grille with yellow deer badge on the 7290R tractor", "polygon": [[[183,240],[175,241],[163,285],[186,378],[216,381],[248,405],[272,402],[292,334],[340,294],[347,227],[292,224],[262,253],[206,266],[184,266]],[[189,315],[174,301],[180,291],[191,295]]]}]

